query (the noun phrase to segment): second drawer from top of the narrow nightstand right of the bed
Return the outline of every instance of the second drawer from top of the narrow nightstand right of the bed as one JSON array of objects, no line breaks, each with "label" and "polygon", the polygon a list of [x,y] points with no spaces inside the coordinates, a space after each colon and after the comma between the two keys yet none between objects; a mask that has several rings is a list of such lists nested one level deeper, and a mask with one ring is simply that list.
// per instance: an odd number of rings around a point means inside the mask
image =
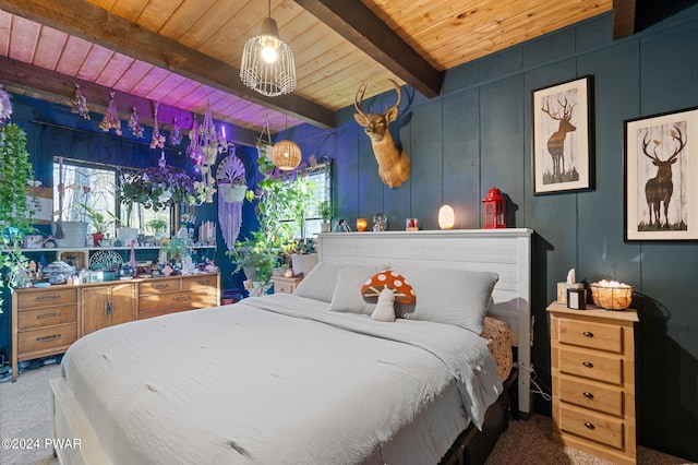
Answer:
[{"label": "second drawer from top of the narrow nightstand right of the bed", "polygon": [[593,350],[555,348],[561,373],[576,374],[621,385],[623,358]]}]

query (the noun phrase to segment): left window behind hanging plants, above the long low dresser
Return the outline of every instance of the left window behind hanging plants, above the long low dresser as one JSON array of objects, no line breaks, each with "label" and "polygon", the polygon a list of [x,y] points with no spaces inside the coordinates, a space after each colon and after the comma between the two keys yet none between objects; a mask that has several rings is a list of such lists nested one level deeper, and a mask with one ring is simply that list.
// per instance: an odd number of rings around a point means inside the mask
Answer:
[{"label": "left window behind hanging plants, above the long low dresser", "polygon": [[[65,159],[62,163],[53,162],[53,212],[55,218],[64,222],[87,220],[81,204],[87,205],[96,212],[111,212],[121,218],[123,226],[139,228],[153,234],[148,228],[152,219],[165,219],[167,230],[165,236],[170,236],[169,210],[154,212],[135,204],[128,222],[125,208],[121,208],[119,192],[119,177],[125,168],[95,165],[79,160]],[[59,186],[63,188],[63,199],[59,195]],[[92,225],[89,233],[93,233]],[[111,231],[116,230],[111,228]]]}]

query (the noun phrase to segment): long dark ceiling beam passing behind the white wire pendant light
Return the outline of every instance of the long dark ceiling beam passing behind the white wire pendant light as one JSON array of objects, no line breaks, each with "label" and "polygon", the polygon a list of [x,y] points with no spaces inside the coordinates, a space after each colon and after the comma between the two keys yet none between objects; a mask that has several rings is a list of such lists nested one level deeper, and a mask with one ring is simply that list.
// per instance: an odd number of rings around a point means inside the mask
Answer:
[{"label": "long dark ceiling beam passing behind the white wire pendant light", "polygon": [[335,114],[328,108],[293,94],[257,94],[239,80],[239,69],[84,0],[0,0],[0,9],[312,124],[326,129],[335,126]]}]

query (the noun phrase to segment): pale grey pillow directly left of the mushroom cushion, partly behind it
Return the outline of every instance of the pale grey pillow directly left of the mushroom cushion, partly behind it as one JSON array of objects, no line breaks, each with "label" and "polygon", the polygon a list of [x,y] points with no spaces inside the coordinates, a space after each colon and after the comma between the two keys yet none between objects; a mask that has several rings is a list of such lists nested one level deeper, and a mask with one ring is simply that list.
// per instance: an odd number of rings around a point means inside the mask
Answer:
[{"label": "pale grey pillow directly left of the mushroom cushion, partly behind it", "polygon": [[369,315],[373,313],[376,300],[364,299],[361,295],[361,286],[371,276],[386,267],[385,265],[344,265],[337,276],[329,310]]}]

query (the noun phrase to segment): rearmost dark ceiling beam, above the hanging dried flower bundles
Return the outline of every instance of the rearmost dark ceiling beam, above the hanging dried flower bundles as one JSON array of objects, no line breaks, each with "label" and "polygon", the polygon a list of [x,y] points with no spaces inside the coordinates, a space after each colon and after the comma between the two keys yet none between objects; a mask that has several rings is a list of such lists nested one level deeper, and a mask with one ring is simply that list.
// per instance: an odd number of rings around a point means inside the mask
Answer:
[{"label": "rearmost dark ceiling beam, above the hanging dried flower bundles", "polygon": [[[101,115],[107,112],[109,93],[113,92],[115,100],[119,103],[119,107],[135,108],[142,124],[151,127],[155,124],[153,102],[147,98],[113,91],[93,82],[67,76],[65,74],[34,67],[10,58],[0,57],[0,81],[9,83],[9,85],[5,86],[5,90],[9,92],[60,105],[71,104],[75,93],[75,84],[79,84],[81,92],[85,96],[85,100],[87,100],[89,110]],[[128,121],[130,112],[120,112],[119,117]],[[179,108],[165,104],[159,105],[158,120],[161,127],[171,126],[174,118],[177,118],[177,122],[182,129],[189,130],[192,128],[193,116],[190,111],[180,110]],[[125,127],[122,129],[124,131],[127,130]],[[228,139],[236,144],[255,145],[257,143],[258,134],[249,129],[233,127],[232,131],[229,128],[226,134]]]}]

